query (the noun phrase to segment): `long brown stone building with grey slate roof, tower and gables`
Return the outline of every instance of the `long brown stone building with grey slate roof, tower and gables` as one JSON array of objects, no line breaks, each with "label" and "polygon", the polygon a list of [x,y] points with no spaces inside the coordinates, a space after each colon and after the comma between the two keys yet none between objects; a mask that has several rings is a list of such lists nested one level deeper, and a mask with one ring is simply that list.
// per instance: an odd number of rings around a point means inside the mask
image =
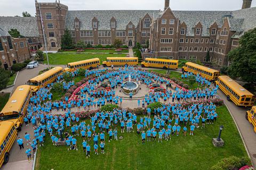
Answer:
[{"label": "long brown stone building with grey slate roof, tower and gables", "polygon": [[69,11],[60,1],[38,3],[36,17],[40,41],[43,44],[42,24],[49,50],[58,50],[61,36],[69,30],[73,44],[111,45],[121,39],[123,45],[149,44],[151,53],[143,57],[167,57],[176,60],[206,61],[228,65],[227,54],[236,48],[244,32],[256,27],[256,7],[252,0],[243,0],[237,11],[172,11],[170,0],[160,10],[88,10]]}]

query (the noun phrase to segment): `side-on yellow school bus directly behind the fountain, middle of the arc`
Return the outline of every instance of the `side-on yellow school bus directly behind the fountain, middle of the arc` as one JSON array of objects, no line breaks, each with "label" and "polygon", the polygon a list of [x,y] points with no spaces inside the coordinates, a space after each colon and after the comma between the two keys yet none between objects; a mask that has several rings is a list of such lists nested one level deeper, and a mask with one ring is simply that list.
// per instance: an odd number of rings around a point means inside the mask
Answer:
[{"label": "side-on yellow school bus directly behind the fountain, middle of the arc", "polygon": [[107,57],[107,61],[103,61],[104,67],[111,65],[138,65],[138,57]]}]

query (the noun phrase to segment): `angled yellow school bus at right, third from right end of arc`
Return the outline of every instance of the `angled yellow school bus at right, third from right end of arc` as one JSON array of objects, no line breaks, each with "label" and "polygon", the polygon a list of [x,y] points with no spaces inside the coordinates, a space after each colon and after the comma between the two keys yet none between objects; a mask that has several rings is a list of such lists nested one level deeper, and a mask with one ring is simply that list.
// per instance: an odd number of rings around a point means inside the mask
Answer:
[{"label": "angled yellow school bus at right, third from right end of arc", "polygon": [[186,72],[192,72],[194,74],[200,74],[202,77],[210,81],[217,80],[220,75],[218,70],[214,70],[192,62],[187,62],[185,66],[182,67],[182,70]]}]

